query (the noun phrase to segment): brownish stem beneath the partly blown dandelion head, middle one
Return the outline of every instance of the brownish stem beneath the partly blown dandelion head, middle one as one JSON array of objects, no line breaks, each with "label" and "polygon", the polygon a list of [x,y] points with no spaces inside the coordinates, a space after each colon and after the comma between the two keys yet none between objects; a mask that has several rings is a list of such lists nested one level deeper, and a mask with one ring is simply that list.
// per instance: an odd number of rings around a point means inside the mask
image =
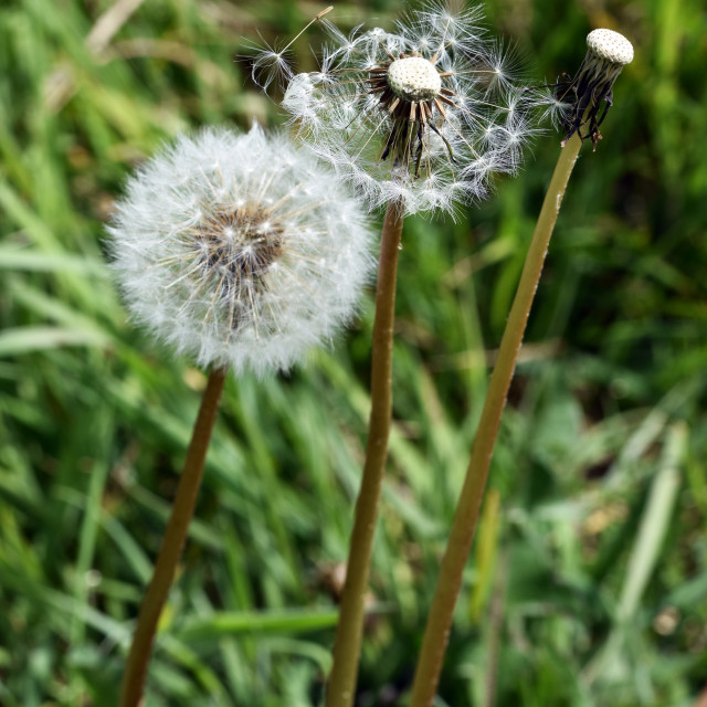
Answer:
[{"label": "brownish stem beneath the partly blown dandelion head, middle one", "polygon": [[378,264],[368,444],[361,489],[356,503],[356,517],[334,643],[334,665],[327,687],[326,707],[349,707],[354,704],[356,693],[366,592],[392,414],[395,277],[402,222],[402,203],[400,201],[389,203],[383,221]]}]

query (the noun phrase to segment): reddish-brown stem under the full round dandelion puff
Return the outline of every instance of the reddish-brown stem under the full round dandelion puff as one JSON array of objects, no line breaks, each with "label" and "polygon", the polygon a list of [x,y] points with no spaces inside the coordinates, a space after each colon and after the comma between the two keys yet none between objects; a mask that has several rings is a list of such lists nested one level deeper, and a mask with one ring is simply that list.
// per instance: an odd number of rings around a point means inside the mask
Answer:
[{"label": "reddish-brown stem under the full round dandelion puff", "polygon": [[225,368],[217,368],[209,376],[187,451],[184,467],[177,487],[172,513],[155,563],[152,579],[143,599],[137,619],[133,645],[123,676],[119,707],[137,707],[143,697],[157,623],[167,602],[177,563],[187,539],[189,524],[194,513],[207,450],[217,419],[225,374]]}]

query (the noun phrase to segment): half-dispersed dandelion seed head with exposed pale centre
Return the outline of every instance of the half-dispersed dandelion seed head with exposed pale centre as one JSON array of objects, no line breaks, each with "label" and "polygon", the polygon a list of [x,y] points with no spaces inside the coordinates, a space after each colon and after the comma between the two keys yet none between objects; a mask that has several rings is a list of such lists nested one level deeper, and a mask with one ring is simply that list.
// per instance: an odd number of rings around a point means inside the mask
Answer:
[{"label": "half-dispersed dandelion seed head with exposed pale centre", "polygon": [[324,22],[320,71],[287,82],[283,106],[299,136],[371,205],[453,210],[515,172],[534,129],[513,62],[476,8],[428,3],[393,32],[348,36]]}]

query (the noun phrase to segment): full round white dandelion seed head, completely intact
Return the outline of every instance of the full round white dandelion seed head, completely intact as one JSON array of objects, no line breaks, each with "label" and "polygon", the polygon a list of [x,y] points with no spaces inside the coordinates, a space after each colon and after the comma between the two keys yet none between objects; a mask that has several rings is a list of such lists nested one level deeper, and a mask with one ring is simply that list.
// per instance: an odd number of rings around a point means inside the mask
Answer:
[{"label": "full round white dandelion seed head, completely intact", "polygon": [[109,228],[133,317],[200,365],[288,369],[354,315],[365,214],[284,136],[181,136],[127,186]]}]

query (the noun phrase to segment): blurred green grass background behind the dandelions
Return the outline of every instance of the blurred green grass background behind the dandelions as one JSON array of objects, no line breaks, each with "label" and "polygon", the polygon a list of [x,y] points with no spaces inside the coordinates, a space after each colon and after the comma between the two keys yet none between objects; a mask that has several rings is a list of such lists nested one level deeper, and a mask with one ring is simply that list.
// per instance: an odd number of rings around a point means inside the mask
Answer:
[{"label": "blurred green grass background behind the dandelions", "polygon": [[[292,36],[323,7],[0,4],[6,707],[115,704],[204,384],[126,321],[103,255],[113,200],[180,130],[282,123],[250,82],[247,41]],[[389,27],[399,9],[340,2],[329,17]],[[486,13],[531,82],[572,73],[597,27],[636,57],[560,214],[439,705],[692,707],[707,685],[707,15],[699,0],[496,0]],[[319,42],[313,28],[298,43],[300,68]],[[457,223],[405,223],[360,707],[404,704],[559,139],[548,125],[520,177]],[[369,293],[334,351],[291,377],[229,381],[147,707],[319,704],[371,326]]]}]

